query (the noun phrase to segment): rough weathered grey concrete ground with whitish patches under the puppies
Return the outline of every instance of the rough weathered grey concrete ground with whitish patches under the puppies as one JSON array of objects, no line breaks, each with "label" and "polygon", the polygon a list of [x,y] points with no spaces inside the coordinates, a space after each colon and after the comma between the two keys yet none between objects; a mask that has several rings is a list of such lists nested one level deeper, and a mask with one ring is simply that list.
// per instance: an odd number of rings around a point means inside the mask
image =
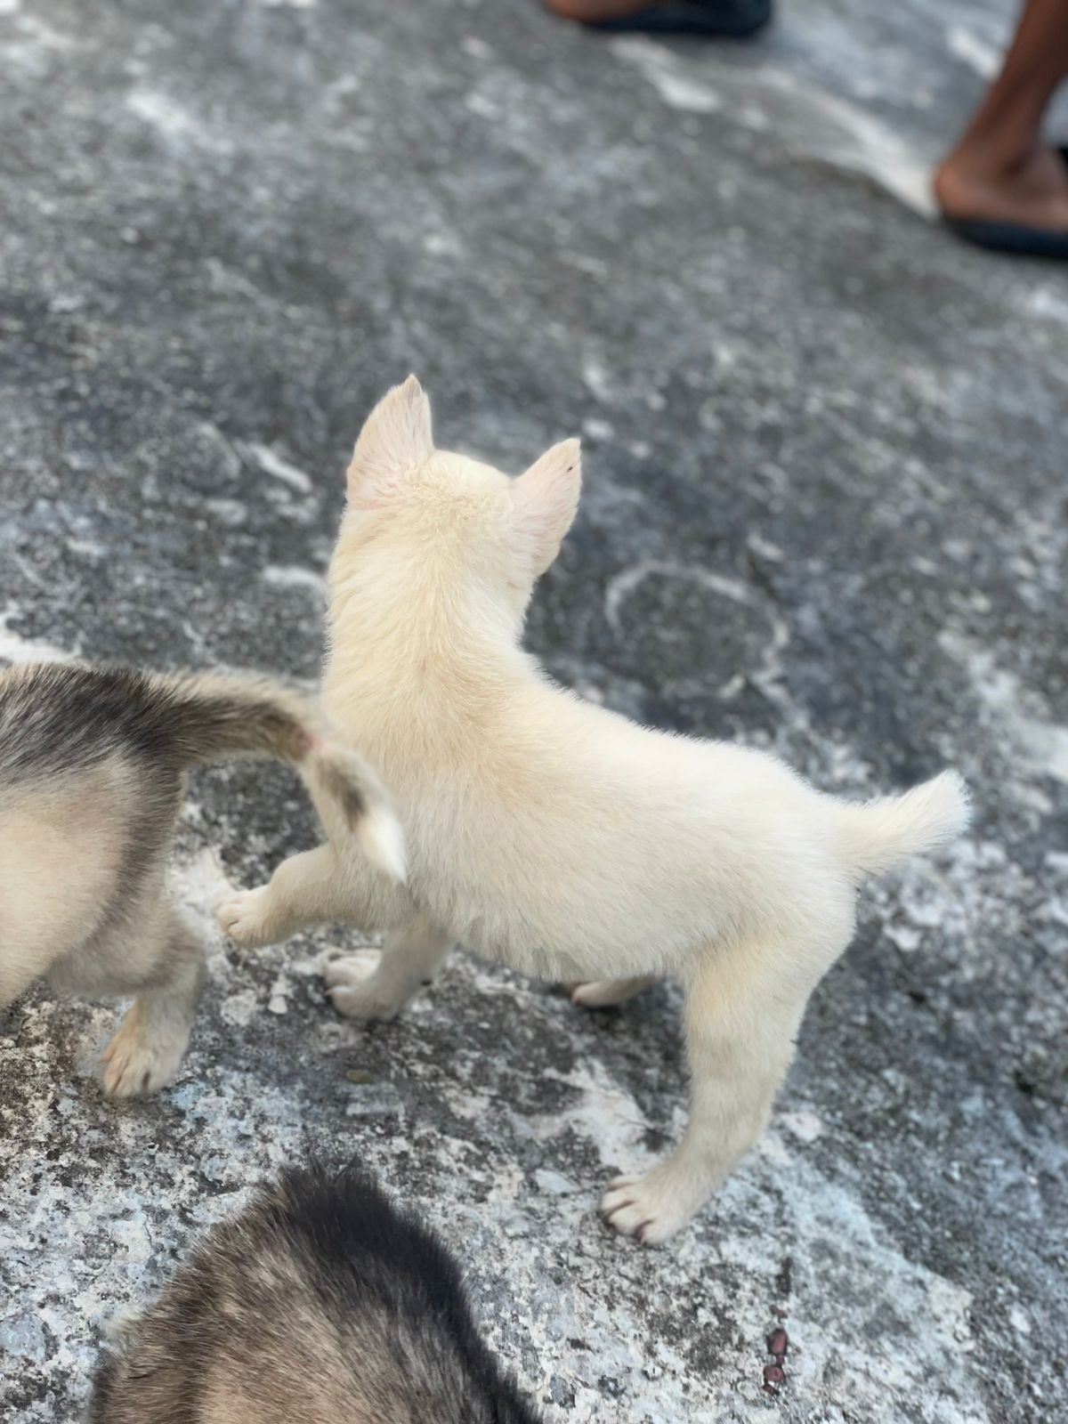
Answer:
[{"label": "rough weathered grey concrete ground with whitish patches under the puppies", "polygon": [[[457,956],[362,1031],[316,973],[352,937],[205,923],[192,1051],[122,1106],[114,1005],[33,994],[4,1420],[75,1420],[101,1323],[308,1146],[426,1209],[550,1420],[1068,1417],[1068,272],[926,198],[1012,10],[783,0],[686,48],[537,0],[0,0],[3,658],[313,678],[346,453],[414,369],[443,444],[584,436],[530,619],[562,682],[827,790],[975,795],[863,893],[770,1131],[662,1250],[594,1205],[685,1119],[671,988],[590,1014]],[[312,836],[281,772],[201,775],[175,893]]]}]

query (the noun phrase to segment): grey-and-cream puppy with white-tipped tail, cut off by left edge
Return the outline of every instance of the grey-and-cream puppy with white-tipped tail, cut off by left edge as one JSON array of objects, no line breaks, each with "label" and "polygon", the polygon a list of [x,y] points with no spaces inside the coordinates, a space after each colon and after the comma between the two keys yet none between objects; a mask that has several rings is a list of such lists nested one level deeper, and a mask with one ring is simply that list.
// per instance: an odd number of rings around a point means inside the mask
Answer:
[{"label": "grey-and-cream puppy with white-tipped tail, cut off by left edge", "polygon": [[0,671],[0,1012],[41,975],[58,990],[137,994],[104,1054],[114,1096],[155,1092],[185,1052],[202,948],[168,899],[167,853],[187,769],[235,756],[299,768],[337,844],[353,859],[362,846],[369,874],[403,876],[377,778],[278,684],[73,664]]}]

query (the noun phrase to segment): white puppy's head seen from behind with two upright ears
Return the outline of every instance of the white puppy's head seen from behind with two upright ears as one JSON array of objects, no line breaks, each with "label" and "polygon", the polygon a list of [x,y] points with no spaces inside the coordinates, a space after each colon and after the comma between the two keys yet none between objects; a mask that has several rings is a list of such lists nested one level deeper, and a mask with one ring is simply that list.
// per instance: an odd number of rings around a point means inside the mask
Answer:
[{"label": "white puppy's head seen from behind with two upright ears", "polygon": [[[578,440],[553,446],[518,478],[436,450],[414,376],[372,410],[349,466],[335,580],[359,567],[447,597],[464,587],[518,612],[557,557],[581,486]],[[397,591],[400,591],[397,588]]]}]

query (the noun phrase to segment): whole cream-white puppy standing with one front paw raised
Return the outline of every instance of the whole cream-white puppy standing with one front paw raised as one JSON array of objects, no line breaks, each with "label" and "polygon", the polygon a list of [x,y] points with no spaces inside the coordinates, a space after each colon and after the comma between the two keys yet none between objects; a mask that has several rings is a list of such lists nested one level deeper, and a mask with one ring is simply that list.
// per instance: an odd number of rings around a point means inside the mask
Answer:
[{"label": "whole cream-white puppy standing with one front paw raised", "polygon": [[853,936],[857,886],[957,834],[967,795],[944,772],[904,796],[836,800],[763,752],[649,731],[554,686],[520,637],[578,490],[575,440],[513,480],[434,449],[414,379],[382,400],[349,468],[323,706],[396,795],[412,874],[373,880],[326,844],[219,916],[244,944],[323,920],[390,930],[369,978],[352,961],[328,970],[359,1018],[394,1014],[454,940],[592,980],[594,1002],[678,977],[689,1126],[601,1203],[652,1243],[762,1132],[806,1001]]}]

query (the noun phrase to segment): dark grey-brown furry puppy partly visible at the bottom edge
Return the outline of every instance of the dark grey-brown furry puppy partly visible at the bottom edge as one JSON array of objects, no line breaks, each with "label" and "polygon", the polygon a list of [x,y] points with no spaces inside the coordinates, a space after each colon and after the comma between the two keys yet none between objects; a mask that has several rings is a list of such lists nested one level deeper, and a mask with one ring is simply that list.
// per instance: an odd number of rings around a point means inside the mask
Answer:
[{"label": "dark grey-brown furry puppy partly visible at the bottom edge", "polygon": [[105,1346],[87,1424],[537,1424],[444,1246],[366,1178],[288,1172]]}]

